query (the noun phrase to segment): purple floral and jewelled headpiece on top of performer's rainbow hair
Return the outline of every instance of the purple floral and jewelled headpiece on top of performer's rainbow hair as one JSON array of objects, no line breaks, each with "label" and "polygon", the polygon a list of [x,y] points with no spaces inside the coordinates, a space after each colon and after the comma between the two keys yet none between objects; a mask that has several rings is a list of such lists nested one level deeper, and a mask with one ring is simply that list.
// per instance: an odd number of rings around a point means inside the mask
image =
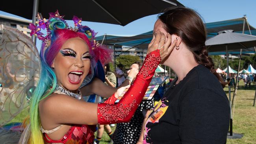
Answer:
[{"label": "purple floral and jewelled headpiece on top of performer's rainbow hair", "polygon": [[[97,33],[95,33],[94,30],[91,30],[88,26],[82,26],[82,18],[74,16],[72,19],[74,21],[74,28],[72,28],[69,27],[67,22],[63,19],[64,16],[59,15],[58,10],[55,13],[49,13],[49,15],[49,19],[46,20],[42,17],[41,13],[37,13],[38,21],[36,23],[38,26],[30,23],[30,26],[28,27],[31,30],[30,36],[35,35],[38,39],[45,42],[45,47],[50,46],[52,31],[56,29],[69,29],[84,33],[91,42],[91,46],[96,47],[96,42],[94,39]],[[45,28],[47,30],[47,34],[46,36],[43,36],[44,34],[41,32],[41,30],[45,30]]]}]

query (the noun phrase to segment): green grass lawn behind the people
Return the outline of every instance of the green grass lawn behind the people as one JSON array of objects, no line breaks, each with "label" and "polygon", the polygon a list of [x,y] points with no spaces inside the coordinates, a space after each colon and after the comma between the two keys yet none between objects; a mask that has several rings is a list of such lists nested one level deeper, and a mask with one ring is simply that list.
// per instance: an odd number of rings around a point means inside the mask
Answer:
[{"label": "green grass lawn behind the people", "polygon": [[[252,106],[256,86],[252,85],[250,88],[245,88],[243,81],[240,81],[239,85],[233,117],[233,133],[243,134],[243,137],[241,139],[227,139],[227,144],[256,144],[256,107]],[[224,90],[228,94],[228,87],[225,87]],[[233,89],[231,96],[233,97]],[[12,122],[21,122],[24,118],[24,113],[26,112],[18,115]],[[114,131],[115,127],[111,129]],[[104,131],[100,144],[108,144],[109,140]]]}]

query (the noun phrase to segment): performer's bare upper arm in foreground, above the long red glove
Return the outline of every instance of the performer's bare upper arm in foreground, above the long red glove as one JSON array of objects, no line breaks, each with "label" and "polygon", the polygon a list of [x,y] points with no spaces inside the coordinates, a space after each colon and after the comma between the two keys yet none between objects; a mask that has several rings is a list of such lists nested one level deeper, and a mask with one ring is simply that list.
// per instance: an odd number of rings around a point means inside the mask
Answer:
[{"label": "performer's bare upper arm in foreground, above the long red glove", "polygon": [[51,94],[39,103],[42,125],[97,124],[97,103],[87,103],[63,94]]}]

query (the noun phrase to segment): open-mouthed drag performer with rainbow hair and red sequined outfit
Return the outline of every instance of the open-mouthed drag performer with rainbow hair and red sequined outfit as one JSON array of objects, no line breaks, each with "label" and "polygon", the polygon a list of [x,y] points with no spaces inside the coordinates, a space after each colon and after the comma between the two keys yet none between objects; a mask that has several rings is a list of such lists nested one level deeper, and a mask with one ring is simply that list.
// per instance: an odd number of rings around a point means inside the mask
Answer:
[{"label": "open-mouthed drag performer with rainbow hair and red sequined outfit", "polygon": [[[129,122],[161,59],[176,45],[176,41],[171,44],[170,35],[166,38],[156,31],[141,70],[120,102],[114,103],[114,93],[105,103],[87,103],[79,87],[83,79],[89,83],[95,73],[94,31],[82,26],[82,18],[75,16],[75,27],[69,27],[58,11],[50,13],[48,20],[37,18],[41,23],[30,24],[30,29],[43,41],[41,74],[30,98],[29,124],[20,143],[92,144],[96,124]],[[45,37],[40,32],[44,28]]]}]

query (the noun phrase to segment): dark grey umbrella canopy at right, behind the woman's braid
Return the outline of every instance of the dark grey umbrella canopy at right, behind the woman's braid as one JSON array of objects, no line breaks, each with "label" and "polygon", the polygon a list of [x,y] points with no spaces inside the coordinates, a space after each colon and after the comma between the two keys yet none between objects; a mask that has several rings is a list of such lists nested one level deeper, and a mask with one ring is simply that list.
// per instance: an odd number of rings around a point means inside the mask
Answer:
[{"label": "dark grey umbrella canopy at right, behind the woman's braid", "polygon": [[209,52],[218,52],[235,49],[245,49],[256,46],[256,36],[243,33],[234,33],[233,30],[220,31],[218,35],[206,40]]}]

